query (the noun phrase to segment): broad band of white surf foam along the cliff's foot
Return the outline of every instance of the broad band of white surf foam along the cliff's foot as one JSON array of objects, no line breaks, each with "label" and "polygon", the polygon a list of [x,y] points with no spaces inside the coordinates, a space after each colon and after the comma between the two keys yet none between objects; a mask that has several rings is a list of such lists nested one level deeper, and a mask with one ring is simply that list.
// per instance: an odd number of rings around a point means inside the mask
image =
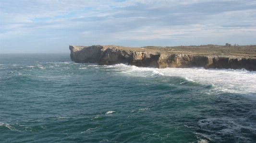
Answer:
[{"label": "broad band of white surf foam along the cliff's foot", "polygon": [[[187,81],[204,85],[214,85],[219,91],[232,93],[247,93],[255,96],[256,72],[244,69],[204,69],[204,68],[151,68],[137,67],[125,64],[113,66],[125,76],[132,77],[185,77]],[[182,83],[181,83],[182,84]]]}]

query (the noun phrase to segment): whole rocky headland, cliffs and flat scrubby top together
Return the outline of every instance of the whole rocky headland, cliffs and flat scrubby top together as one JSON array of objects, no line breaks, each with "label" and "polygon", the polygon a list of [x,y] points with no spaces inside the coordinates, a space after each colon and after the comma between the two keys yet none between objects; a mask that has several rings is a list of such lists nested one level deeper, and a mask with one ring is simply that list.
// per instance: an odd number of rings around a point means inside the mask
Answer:
[{"label": "whole rocky headland, cliffs and flat scrubby top together", "polygon": [[246,69],[256,71],[256,45],[246,46],[175,46],[124,47],[116,45],[70,45],[71,60],[99,65],[125,64],[133,66],[204,67]]}]

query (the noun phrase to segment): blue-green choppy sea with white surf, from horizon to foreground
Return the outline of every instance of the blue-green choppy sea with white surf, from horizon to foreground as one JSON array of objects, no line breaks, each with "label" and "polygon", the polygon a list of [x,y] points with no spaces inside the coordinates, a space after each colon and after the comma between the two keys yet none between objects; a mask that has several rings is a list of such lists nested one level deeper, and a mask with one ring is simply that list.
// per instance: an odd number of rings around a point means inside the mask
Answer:
[{"label": "blue-green choppy sea with white surf, from horizon to foreground", "polygon": [[0,143],[256,143],[256,72],[0,54]]}]

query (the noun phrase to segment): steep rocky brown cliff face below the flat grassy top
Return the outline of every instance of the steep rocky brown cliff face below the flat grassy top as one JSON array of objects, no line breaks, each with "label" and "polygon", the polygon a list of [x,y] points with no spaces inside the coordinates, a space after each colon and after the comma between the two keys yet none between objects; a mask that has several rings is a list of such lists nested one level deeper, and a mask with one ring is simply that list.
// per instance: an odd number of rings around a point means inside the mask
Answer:
[{"label": "steep rocky brown cliff face below the flat grassy top", "polygon": [[256,59],[222,56],[204,56],[187,54],[160,54],[146,51],[127,50],[122,48],[105,48],[101,45],[70,45],[71,60],[77,63],[98,63],[112,65],[128,63],[133,66],[165,67],[204,67],[232,68],[256,71]]}]

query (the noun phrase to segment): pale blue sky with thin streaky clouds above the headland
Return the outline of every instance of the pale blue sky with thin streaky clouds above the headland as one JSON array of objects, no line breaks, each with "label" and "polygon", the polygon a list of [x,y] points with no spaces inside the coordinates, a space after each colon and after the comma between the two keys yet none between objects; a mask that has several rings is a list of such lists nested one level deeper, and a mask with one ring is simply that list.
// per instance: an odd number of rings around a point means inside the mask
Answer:
[{"label": "pale blue sky with thin streaky clouds above the headland", "polygon": [[256,44],[256,0],[0,0],[1,53]]}]

